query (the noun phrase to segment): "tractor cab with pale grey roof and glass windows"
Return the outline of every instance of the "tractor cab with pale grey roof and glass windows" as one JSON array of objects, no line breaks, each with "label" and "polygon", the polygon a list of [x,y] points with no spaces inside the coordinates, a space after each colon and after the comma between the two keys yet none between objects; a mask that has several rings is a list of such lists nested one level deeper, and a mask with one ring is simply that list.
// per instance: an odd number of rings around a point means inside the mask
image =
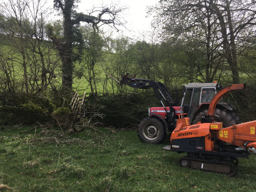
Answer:
[{"label": "tractor cab with pale grey roof and glass windows", "polygon": [[222,86],[218,83],[189,83],[184,85],[180,105],[181,113],[187,113],[188,118],[192,119],[198,108],[202,104],[209,105],[220,89]]}]

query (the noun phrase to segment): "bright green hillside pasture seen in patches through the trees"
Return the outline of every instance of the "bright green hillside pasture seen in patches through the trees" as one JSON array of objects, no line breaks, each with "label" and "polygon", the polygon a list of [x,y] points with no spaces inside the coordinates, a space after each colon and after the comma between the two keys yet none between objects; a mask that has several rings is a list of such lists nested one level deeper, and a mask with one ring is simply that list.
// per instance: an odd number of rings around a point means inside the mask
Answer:
[{"label": "bright green hillside pasture seen in patches through the trees", "polygon": [[[53,79],[53,83],[56,87],[60,87],[61,81],[62,81],[61,80],[62,79],[62,70],[61,70],[61,60],[58,56],[58,53],[56,52],[56,50],[53,50],[53,45],[47,41],[45,41],[41,45],[41,50],[44,53],[45,66],[47,67],[49,65],[50,69],[52,69],[53,65],[54,65],[54,74],[56,75],[56,78]],[[23,60],[22,60],[21,53],[18,51],[18,49],[16,47],[9,45],[3,39],[0,40],[0,51],[3,52],[3,54],[5,55],[6,58],[8,58],[9,66],[12,69],[12,78],[15,79],[16,88],[20,89],[21,84],[24,81],[24,77],[23,77],[24,71],[23,71],[23,67],[22,67]],[[7,55],[8,55],[8,57],[7,57]],[[117,68],[116,63],[128,62],[126,60],[119,61],[119,59],[118,59],[118,56],[115,54],[110,54],[108,52],[104,52],[101,56],[100,62],[97,62],[95,64],[94,71],[96,74],[96,86],[97,86],[97,90],[99,93],[103,93],[103,84],[106,83],[106,82],[104,82],[105,78],[106,78],[106,73],[104,72],[103,68],[105,68],[105,70],[106,70],[106,68],[109,68],[110,70],[112,70],[113,68]],[[134,70],[136,70],[136,68],[139,67],[138,66],[139,64],[136,62],[136,60],[133,61],[132,59],[133,58],[130,58],[130,61],[129,61],[129,62],[132,62],[132,64],[130,63],[129,67],[128,67],[130,69],[130,71],[127,71],[127,72],[130,72],[130,75],[132,75]],[[53,64],[53,63],[55,63],[55,64]],[[33,54],[29,49],[27,49],[26,65],[27,65],[27,72],[28,72],[28,78],[30,79],[30,83],[33,84],[34,80],[36,79],[37,83],[40,85],[41,84],[41,79],[40,79],[41,78],[41,67],[40,66],[42,65],[40,56],[36,53]],[[35,66],[37,66],[37,68],[35,68]],[[159,63],[158,66],[161,66],[161,64]],[[83,95],[84,90],[86,90],[87,93],[90,93],[91,89],[90,89],[89,82],[84,77],[84,76],[87,76],[87,78],[88,78],[88,69],[87,69],[86,61],[84,60],[84,56],[82,56],[81,63],[76,61],[73,63],[73,67],[74,67],[73,90],[78,91],[78,94],[80,94],[80,95]],[[231,71],[228,67],[224,71],[225,71],[225,73],[221,76],[220,83],[229,85],[231,83],[231,78],[230,78]],[[136,71],[136,73],[138,73],[138,72],[139,71]],[[78,75],[79,73],[81,73],[82,75],[81,74]],[[0,71],[0,75],[4,76],[3,71]],[[251,76],[252,75],[254,75],[253,72],[251,73]],[[48,76],[49,76],[49,74],[47,74],[47,78],[48,78]],[[113,75],[113,76],[116,79],[119,79],[117,76],[115,76],[115,75]],[[137,77],[143,78],[143,76],[140,76],[139,74]],[[239,73],[239,77],[240,77],[242,83],[253,84],[253,83],[251,83],[252,81],[250,79],[250,76],[248,76],[247,73],[244,73],[241,71]],[[200,76],[198,76],[197,78],[201,79]],[[178,88],[182,88],[183,84],[187,84],[189,82],[188,79],[186,79],[186,78],[184,79],[183,77],[180,77],[180,78],[175,77],[174,79],[175,79],[174,85],[177,86]],[[157,77],[157,75],[156,75],[155,80],[164,82],[164,80],[159,79],[159,77]],[[107,81],[108,93],[113,92],[111,83],[114,84],[114,92],[116,93],[117,83],[112,81],[112,79],[110,77],[108,77],[108,81]],[[29,85],[29,86],[31,86],[31,85]],[[50,87],[50,85],[49,85],[49,87]],[[126,90],[126,88],[125,88],[125,90]],[[134,92],[134,89],[128,88],[127,90]]]}]

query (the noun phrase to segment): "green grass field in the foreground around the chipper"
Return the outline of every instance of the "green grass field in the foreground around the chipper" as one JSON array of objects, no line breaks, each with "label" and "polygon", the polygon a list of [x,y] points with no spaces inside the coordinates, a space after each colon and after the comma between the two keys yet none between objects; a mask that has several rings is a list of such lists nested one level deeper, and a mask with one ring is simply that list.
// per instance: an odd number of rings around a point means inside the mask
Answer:
[{"label": "green grass field in the foreground around the chipper", "polygon": [[[0,137],[29,129],[6,127]],[[228,177],[179,167],[184,154],[161,150],[168,139],[146,144],[135,130],[100,130],[76,135],[87,142],[83,146],[30,145],[39,129],[0,140],[0,184],[11,191],[256,191],[256,156],[240,159],[236,175]]]}]

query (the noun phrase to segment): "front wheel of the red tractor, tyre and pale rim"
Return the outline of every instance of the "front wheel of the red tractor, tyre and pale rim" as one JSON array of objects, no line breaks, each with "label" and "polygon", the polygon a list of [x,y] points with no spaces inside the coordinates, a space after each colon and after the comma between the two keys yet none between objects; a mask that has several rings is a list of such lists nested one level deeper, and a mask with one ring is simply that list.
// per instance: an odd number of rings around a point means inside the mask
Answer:
[{"label": "front wheel of the red tractor, tyre and pale rim", "polygon": [[166,135],[163,123],[154,117],[143,119],[137,132],[140,140],[145,143],[160,143]]}]

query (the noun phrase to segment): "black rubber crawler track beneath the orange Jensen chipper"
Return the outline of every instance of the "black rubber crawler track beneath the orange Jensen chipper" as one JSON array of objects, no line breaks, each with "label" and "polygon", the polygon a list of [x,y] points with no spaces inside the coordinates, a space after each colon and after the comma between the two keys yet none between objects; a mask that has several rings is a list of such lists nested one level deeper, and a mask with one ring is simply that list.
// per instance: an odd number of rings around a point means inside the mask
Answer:
[{"label": "black rubber crawler track beneath the orange Jensen chipper", "polygon": [[181,165],[182,160],[187,160],[189,162],[187,167],[192,169],[224,173],[230,177],[234,176],[236,173],[236,166],[232,162],[215,161],[215,160],[207,160],[207,159],[201,159],[196,157],[184,156],[184,157],[181,157],[179,161],[179,164],[181,167],[183,167]]}]

